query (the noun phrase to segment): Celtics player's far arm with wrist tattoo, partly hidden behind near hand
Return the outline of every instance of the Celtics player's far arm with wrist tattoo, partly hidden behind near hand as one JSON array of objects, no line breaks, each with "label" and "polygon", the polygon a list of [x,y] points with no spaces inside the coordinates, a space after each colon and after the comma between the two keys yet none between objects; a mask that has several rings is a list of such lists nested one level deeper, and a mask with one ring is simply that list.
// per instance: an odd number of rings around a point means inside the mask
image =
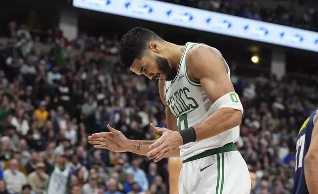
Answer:
[{"label": "Celtics player's far arm with wrist tattoo, partly hidden behind near hand", "polygon": [[[167,126],[170,130],[178,131],[177,118],[173,115],[170,108],[165,103],[164,99],[164,83],[159,81],[159,95],[165,105],[165,117]],[[88,137],[88,143],[96,144],[95,148],[109,149],[115,152],[130,151],[139,155],[147,155],[150,151],[149,145],[152,145],[156,140],[129,140],[120,131],[107,126],[110,132],[96,133]],[[180,149],[176,149],[166,157],[179,157]],[[153,158],[149,158],[153,159]]]}]

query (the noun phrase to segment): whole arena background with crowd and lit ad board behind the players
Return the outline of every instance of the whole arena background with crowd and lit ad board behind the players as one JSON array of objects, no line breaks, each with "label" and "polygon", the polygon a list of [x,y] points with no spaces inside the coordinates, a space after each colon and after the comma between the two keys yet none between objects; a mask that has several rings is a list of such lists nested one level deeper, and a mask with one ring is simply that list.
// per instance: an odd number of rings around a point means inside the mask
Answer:
[{"label": "whole arena background with crowd and lit ad board behind the players", "polygon": [[120,38],[137,26],[222,52],[244,107],[236,145],[251,194],[292,194],[297,134],[318,106],[316,8],[315,0],[5,0],[0,194],[52,194],[46,182],[60,163],[72,173],[66,194],[169,194],[167,159],[87,141],[107,124],[135,140],[159,138],[150,123],[166,127],[158,81],[119,65]]}]

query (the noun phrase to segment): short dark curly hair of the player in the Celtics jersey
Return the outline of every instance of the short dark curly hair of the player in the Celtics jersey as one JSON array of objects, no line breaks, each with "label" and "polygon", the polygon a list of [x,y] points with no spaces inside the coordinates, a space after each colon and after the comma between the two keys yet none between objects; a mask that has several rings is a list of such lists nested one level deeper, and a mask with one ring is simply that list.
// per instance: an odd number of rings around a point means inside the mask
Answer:
[{"label": "short dark curly hair of the player in the Celtics jersey", "polygon": [[129,68],[134,60],[141,59],[151,41],[162,41],[153,31],[143,27],[131,29],[122,36],[119,45],[119,59]]}]

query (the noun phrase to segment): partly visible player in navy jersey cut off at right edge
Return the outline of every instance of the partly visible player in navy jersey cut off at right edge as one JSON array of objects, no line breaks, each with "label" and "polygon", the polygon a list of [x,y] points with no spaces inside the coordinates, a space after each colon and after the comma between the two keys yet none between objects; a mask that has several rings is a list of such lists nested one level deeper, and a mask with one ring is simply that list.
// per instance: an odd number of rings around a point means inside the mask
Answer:
[{"label": "partly visible player in navy jersey cut off at right edge", "polygon": [[306,119],[298,133],[294,194],[318,193],[318,108]]}]

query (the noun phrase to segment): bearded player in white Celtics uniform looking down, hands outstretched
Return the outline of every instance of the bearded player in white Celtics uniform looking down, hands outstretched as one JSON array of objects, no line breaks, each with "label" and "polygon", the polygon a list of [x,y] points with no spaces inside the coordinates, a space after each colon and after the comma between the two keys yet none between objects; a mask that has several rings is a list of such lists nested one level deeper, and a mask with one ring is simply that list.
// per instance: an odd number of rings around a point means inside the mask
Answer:
[{"label": "bearded player in white Celtics uniform looking down, hands outstretched", "polygon": [[201,43],[178,46],[137,27],[121,38],[119,58],[137,75],[159,79],[168,129],[151,124],[162,136],[135,141],[108,125],[110,133],[93,134],[89,143],[155,162],[180,157],[179,194],[249,194],[247,165],[234,145],[243,108],[220,51]]}]

